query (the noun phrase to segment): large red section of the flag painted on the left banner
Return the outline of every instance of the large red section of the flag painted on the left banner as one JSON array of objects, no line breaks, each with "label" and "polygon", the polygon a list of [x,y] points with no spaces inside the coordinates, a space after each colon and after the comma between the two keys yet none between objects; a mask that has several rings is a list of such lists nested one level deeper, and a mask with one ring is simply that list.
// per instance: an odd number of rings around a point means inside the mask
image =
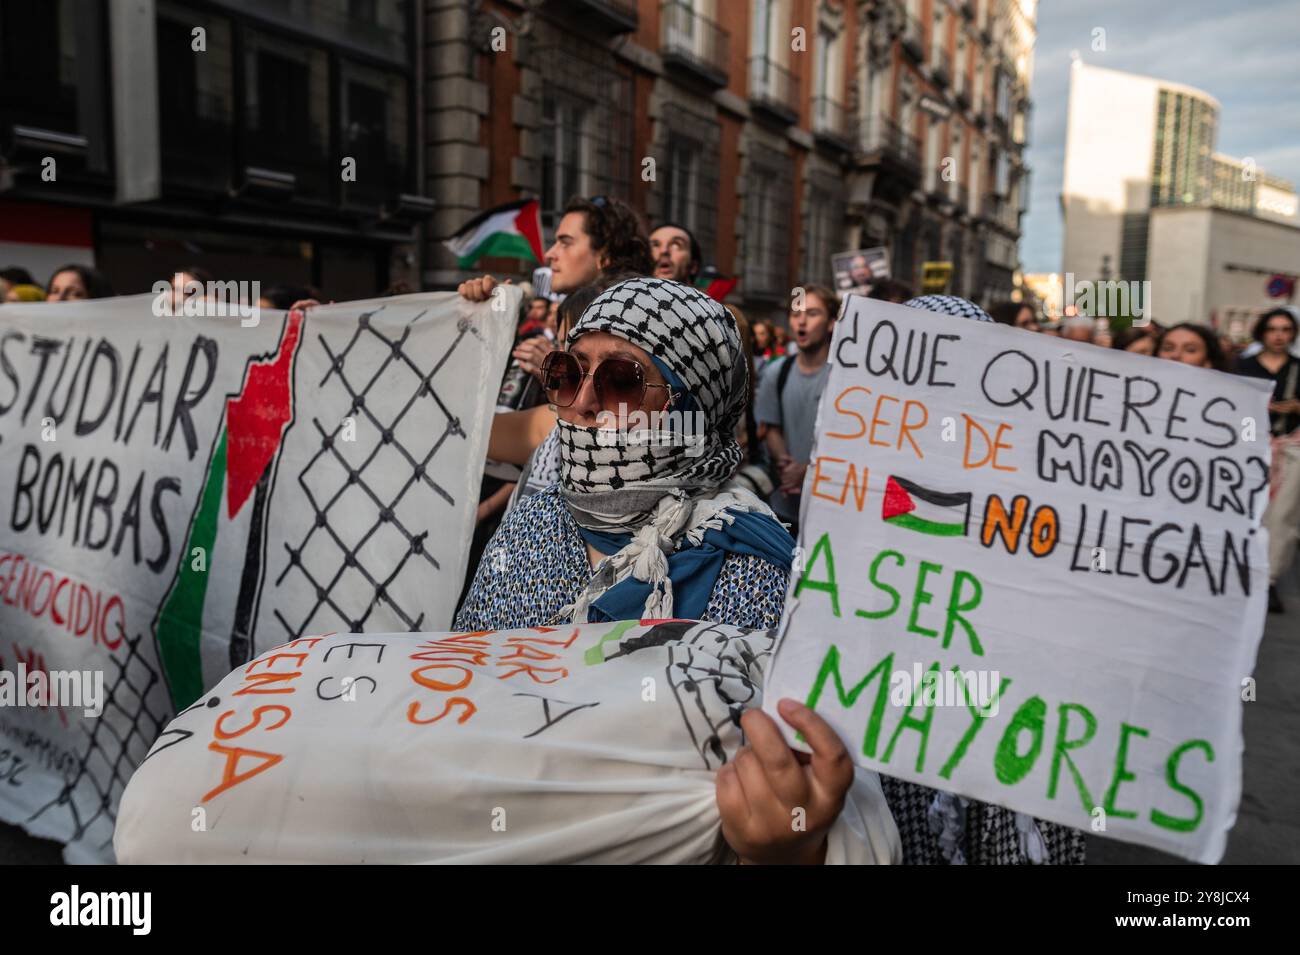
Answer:
[{"label": "large red section of the flag painted on the left banner", "polygon": [[294,352],[302,339],[303,313],[291,312],[280,352],[248,366],[243,390],[226,401],[226,513],[234,517],[252,495],[294,416]]}]

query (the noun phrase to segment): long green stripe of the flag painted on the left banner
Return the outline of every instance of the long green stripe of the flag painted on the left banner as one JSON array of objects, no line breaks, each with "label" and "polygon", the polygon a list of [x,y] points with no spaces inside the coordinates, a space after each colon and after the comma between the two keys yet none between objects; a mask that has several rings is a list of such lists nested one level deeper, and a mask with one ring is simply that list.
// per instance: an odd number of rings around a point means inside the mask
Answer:
[{"label": "long green stripe of the flag painted on the left banner", "polygon": [[[208,561],[217,543],[217,521],[226,485],[226,431],[222,429],[203,485],[199,511],[181,554],[181,568],[159,616],[159,655],[172,687],[172,703],[185,709],[203,695],[203,604],[208,595]],[[202,547],[203,570],[194,569],[194,548]]]}]

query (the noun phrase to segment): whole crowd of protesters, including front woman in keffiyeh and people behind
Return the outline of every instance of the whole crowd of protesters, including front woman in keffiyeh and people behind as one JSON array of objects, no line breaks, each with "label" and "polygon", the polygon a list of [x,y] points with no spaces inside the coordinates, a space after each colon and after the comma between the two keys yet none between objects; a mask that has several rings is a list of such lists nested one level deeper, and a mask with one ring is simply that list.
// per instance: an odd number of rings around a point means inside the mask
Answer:
[{"label": "whole crowd of protesters, including front woman in keffiyeh and people behind", "polygon": [[[750,321],[697,287],[705,262],[689,229],[660,222],[646,230],[627,204],[604,196],[568,203],[545,260],[546,294],[541,283],[524,290],[497,395],[454,629],[673,616],[775,628],[829,378],[838,296],[805,283],[784,321]],[[196,266],[173,277],[177,288],[209,279]],[[484,301],[495,287],[497,279],[482,275],[459,294]],[[74,301],[110,296],[113,288],[96,270],[69,265],[44,287],[22,269],[0,270],[0,294],[6,303]],[[1112,327],[1087,316],[1045,322],[1030,303],[1002,303],[987,313],[954,296],[916,298],[892,279],[878,282],[871,298],[1006,325],[1006,334],[1057,335],[1270,379],[1274,487],[1265,524],[1273,582],[1290,567],[1300,538],[1300,357],[1292,351],[1291,309],[1261,314],[1253,343],[1239,348],[1201,325]],[[298,308],[318,299],[312,288],[274,286],[260,304]],[[610,416],[621,421],[629,411],[693,414],[703,424],[699,446],[597,440]],[[1284,609],[1275,586],[1269,598],[1270,609]],[[842,743],[820,717],[798,719],[814,763],[848,765]],[[718,777],[727,843],[741,860],[820,861],[853,773],[807,776],[826,799],[806,830],[792,833],[790,790],[776,780],[798,764],[770,717],[751,711],[742,724],[751,746]],[[906,861],[1083,860],[1076,830],[883,782]],[[781,791],[786,795],[776,795]],[[759,817],[764,821],[755,822]]]}]

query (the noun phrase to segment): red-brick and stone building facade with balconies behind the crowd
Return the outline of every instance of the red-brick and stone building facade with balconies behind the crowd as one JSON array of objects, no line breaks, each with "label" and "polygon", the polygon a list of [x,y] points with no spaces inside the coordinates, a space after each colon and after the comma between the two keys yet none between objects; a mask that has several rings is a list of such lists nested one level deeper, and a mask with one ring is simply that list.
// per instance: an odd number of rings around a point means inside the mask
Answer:
[{"label": "red-brick and stone building facade with balconies behind the crowd", "polygon": [[[1035,0],[424,0],[424,282],[476,212],[625,199],[780,316],[833,252],[1010,298],[1028,195]],[[520,262],[488,262],[517,272]]]}]

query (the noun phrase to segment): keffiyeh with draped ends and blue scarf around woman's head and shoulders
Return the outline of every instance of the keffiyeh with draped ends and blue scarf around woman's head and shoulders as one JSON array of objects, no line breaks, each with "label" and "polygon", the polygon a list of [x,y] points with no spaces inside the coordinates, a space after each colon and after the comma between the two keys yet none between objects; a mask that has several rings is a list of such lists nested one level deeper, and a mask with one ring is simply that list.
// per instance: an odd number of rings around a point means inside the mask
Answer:
[{"label": "keffiyeh with draped ends and blue scarf around woman's head and shoulders", "polygon": [[736,425],[749,374],[731,313],[690,286],[637,278],[597,298],[568,344],[590,331],[644,348],[682,394],[673,408],[698,412],[702,429],[692,444],[634,444],[558,424],[560,492],[582,537],[607,555],[566,608],[571,618],[699,617],[731,554],[789,569],[793,538],[763,502],[728,486],[742,460]]}]

